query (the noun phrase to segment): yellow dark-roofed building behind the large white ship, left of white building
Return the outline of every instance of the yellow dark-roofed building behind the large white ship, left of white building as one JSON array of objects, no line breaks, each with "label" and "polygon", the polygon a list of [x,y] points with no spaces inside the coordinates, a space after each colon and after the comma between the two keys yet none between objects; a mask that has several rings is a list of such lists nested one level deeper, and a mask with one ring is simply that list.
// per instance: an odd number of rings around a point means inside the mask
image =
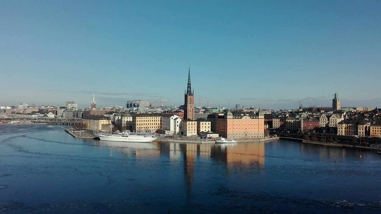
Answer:
[{"label": "yellow dark-roofed building behind the large white ship, left of white building", "polygon": [[160,129],[162,114],[134,113],[132,114],[132,131],[155,133]]}]

